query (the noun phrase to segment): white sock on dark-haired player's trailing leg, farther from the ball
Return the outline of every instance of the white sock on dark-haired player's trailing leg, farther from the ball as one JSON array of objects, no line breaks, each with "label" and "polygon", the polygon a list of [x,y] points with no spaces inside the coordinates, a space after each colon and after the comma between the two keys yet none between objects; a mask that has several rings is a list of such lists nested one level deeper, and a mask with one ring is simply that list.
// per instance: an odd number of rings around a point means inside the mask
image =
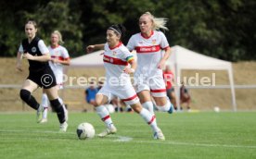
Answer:
[{"label": "white sock on dark-haired player's trailing leg, farther from the ball", "polygon": [[152,115],[147,109],[142,108],[139,113],[140,116],[144,118],[147,124],[152,128],[154,132],[158,131],[157,119],[155,115]]}]

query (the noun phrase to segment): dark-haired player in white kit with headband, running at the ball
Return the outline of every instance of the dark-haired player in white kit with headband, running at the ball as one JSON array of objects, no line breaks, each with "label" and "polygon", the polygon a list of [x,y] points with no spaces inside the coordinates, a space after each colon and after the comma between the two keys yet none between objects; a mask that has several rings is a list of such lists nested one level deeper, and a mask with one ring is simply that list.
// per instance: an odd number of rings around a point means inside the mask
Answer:
[{"label": "dark-haired player in white kit with headband, running at the ball", "polygon": [[115,128],[109,116],[109,111],[103,106],[103,104],[108,104],[114,96],[117,96],[125,104],[131,105],[134,111],[145,119],[153,130],[154,139],[163,141],[165,138],[157,126],[156,117],[142,107],[132,85],[129,74],[134,73],[136,62],[134,61],[134,55],[122,44],[121,39],[124,31],[125,28],[121,24],[112,25],[107,30],[107,43],[87,47],[88,53],[96,49],[105,50],[103,61],[107,79],[105,85],[96,94],[96,113],[107,128],[98,136],[105,137],[117,132],[117,128]]}]

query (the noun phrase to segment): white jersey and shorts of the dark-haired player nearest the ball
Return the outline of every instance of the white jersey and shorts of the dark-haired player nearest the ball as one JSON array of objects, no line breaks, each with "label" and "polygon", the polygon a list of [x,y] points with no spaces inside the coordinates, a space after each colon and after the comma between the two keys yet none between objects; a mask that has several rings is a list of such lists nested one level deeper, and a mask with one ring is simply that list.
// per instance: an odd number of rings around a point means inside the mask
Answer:
[{"label": "white jersey and shorts of the dark-haired player nearest the ball", "polygon": [[123,72],[129,61],[134,59],[134,55],[122,44],[115,48],[109,48],[106,43],[104,47],[104,67],[106,69],[106,82],[98,92],[108,97],[109,101],[113,96],[117,96],[125,104],[136,104],[139,99],[132,85],[130,75]]}]

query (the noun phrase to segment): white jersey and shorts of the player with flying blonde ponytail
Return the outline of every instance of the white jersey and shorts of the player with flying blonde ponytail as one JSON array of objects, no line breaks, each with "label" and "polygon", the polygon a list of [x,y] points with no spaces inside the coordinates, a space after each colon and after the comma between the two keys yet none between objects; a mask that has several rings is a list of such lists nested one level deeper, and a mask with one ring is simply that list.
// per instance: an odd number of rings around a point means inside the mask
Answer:
[{"label": "white jersey and shorts of the player with flying blonde ponytail", "polygon": [[148,90],[155,97],[166,96],[162,70],[158,68],[162,58],[162,50],[166,50],[169,43],[161,31],[152,31],[147,38],[141,33],[134,34],[127,44],[130,51],[137,53],[137,68],[134,73],[135,90]]}]

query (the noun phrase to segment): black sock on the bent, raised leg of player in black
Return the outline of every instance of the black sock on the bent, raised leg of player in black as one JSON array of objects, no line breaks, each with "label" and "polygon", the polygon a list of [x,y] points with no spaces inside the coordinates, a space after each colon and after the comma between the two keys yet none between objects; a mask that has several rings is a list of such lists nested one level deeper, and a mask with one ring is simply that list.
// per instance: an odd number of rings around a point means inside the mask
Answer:
[{"label": "black sock on the bent, raised leg of player in black", "polygon": [[30,105],[33,109],[37,110],[39,105],[37,101],[32,96],[32,93],[27,90],[20,90],[19,92],[20,98],[28,105]]}]

